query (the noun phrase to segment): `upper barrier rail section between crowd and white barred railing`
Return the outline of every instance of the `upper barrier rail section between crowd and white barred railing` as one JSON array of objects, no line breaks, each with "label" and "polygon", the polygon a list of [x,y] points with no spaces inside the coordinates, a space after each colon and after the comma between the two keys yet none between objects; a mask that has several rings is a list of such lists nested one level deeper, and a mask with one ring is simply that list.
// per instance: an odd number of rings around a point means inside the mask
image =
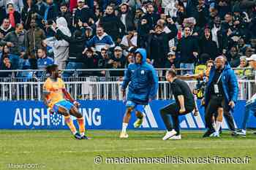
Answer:
[{"label": "upper barrier rail section between crowd and white barred railing", "polygon": [[[65,82],[83,82],[86,77],[93,77],[97,82],[115,82],[120,81],[124,76],[126,69],[66,69],[62,70],[62,79]],[[159,80],[165,80],[165,71],[168,69],[156,69],[158,72]],[[191,71],[192,69],[176,69],[178,74],[181,71]],[[251,70],[248,68],[234,69],[236,70]],[[194,72],[194,70],[192,70]],[[249,75],[238,75],[240,79],[250,80],[252,72]],[[0,70],[0,82],[44,82],[48,74],[45,70]]]}]

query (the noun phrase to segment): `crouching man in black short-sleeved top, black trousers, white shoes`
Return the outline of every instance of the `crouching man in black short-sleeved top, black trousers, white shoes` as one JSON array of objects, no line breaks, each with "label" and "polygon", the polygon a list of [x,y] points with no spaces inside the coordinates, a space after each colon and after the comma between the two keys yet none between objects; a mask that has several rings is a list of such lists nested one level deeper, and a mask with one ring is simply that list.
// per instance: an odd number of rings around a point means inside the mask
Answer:
[{"label": "crouching man in black short-sleeved top, black trousers, white shoes", "polygon": [[[187,82],[178,79],[173,69],[166,72],[165,78],[170,82],[171,91],[176,102],[160,109],[162,120],[167,128],[167,133],[162,139],[181,139],[178,116],[192,112],[195,109],[195,99]],[[173,127],[168,115],[171,115],[173,119]]]}]

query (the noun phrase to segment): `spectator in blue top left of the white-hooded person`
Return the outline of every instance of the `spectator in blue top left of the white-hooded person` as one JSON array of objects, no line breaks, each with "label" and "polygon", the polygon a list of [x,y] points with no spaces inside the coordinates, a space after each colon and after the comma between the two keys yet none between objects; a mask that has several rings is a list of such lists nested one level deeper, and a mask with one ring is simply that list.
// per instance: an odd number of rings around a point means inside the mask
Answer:
[{"label": "spectator in blue top left of the white-hooded person", "polygon": [[43,47],[37,50],[37,58],[37,69],[44,70],[47,66],[54,63],[53,58],[46,55],[46,50]]}]

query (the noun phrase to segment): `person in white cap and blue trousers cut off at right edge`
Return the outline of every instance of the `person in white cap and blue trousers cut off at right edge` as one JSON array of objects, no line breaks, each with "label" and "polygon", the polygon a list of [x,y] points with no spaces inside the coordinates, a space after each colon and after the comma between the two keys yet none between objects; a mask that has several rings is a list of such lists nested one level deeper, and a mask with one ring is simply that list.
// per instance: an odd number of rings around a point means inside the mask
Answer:
[{"label": "person in white cap and blue trousers cut off at right edge", "polygon": [[[255,81],[256,81],[256,54],[251,55],[251,57],[246,58],[246,61],[249,62],[249,65],[252,69],[255,70]],[[256,82],[255,82],[256,84]],[[256,93],[252,96],[248,101],[246,101],[245,111],[244,111],[244,119],[241,124],[241,130],[238,131],[238,135],[246,136],[246,123],[249,119],[249,115],[255,115],[256,117]],[[254,133],[256,134],[256,133]]]}]

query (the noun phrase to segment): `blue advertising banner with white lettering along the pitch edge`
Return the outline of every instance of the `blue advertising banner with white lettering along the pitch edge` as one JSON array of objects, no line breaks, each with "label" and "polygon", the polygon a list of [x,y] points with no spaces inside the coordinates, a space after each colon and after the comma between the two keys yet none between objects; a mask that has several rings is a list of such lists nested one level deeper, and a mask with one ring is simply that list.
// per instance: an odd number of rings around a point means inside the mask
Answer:
[{"label": "blue advertising banner with white lettering along the pitch edge", "polygon": [[[139,129],[164,130],[165,125],[159,115],[159,109],[172,101],[152,101],[144,108],[143,125]],[[80,112],[86,120],[87,129],[121,129],[125,106],[122,101],[80,101]],[[240,128],[244,115],[245,101],[238,101],[233,113],[236,127]],[[1,129],[63,129],[67,128],[64,117],[50,114],[41,101],[0,101]],[[185,129],[204,129],[204,109],[200,107],[200,115],[194,117],[192,113],[181,116],[180,126]],[[73,117],[75,120],[75,117]],[[136,120],[132,115],[129,129]],[[76,122],[76,121],[74,121]],[[256,118],[249,118],[248,127],[256,128]],[[228,128],[224,119],[222,128]]]}]

